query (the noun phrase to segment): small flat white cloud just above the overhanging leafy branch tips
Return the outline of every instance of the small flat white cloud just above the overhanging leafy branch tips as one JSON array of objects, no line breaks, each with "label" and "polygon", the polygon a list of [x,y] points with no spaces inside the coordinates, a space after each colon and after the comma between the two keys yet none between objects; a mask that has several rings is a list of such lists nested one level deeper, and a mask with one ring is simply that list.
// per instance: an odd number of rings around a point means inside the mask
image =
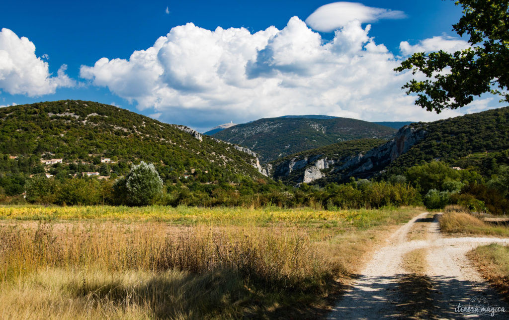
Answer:
[{"label": "small flat white cloud just above the overhanging leafy branch tips", "polygon": [[470,44],[462,39],[449,36],[437,36],[419,41],[415,45],[410,45],[407,41],[400,43],[400,50],[404,55],[411,55],[414,52],[432,52],[444,50],[447,52],[455,52],[466,49]]}]

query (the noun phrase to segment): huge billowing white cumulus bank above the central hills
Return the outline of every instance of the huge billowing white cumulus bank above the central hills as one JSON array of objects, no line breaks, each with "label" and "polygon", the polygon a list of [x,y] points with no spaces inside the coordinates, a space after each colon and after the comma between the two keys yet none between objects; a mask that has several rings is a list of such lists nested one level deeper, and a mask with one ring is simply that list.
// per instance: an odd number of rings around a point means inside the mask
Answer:
[{"label": "huge billowing white cumulus bank above the central hills", "polygon": [[199,129],[289,114],[371,121],[460,115],[413,105],[414,97],[401,90],[412,74],[393,71],[401,58],[375,43],[370,28],[353,20],[327,42],[297,17],[282,30],[272,26],[254,34],[188,23],[128,60],[81,66],[80,75],[137,102],[140,110],[153,110],[154,118]]}]

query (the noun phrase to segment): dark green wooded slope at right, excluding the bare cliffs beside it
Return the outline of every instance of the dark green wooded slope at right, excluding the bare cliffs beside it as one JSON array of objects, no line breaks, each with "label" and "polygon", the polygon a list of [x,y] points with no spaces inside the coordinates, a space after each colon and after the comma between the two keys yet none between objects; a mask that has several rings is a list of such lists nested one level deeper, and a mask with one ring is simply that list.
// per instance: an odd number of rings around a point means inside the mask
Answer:
[{"label": "dark green wooded slope at right, excluding the bare cliffs beside it", "polygon": [[474,168],[486,176],[495,164],[509,163],[509,107],[420,123],[426,136],[387,167],[387,174],[433,160]]}]

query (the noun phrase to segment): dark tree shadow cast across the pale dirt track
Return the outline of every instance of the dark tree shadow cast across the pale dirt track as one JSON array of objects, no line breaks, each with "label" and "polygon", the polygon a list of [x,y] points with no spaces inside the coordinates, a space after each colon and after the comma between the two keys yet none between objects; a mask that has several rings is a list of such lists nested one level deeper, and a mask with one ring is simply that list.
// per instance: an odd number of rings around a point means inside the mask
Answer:
[{"label": "dark tree shadow cast across the pale dirt track", "polygon": [[[338,301],[329,318],[364,318],[378,310],[377,318],[462,319],[466,314],[455,312],[455,308],[458,304],[468,306],[476,296],[485,297],[491,306],[504,306],[509,310],[498,294],[491,289],[479,291],[479,283],[474,281],[415,274],[376,278],[359,276],[358,279],[369,284],[362,283],[361,289],[349,292]],[[384,304],[382,308],[381,304]],[[498,315],[509,316],[507,313]]]}]

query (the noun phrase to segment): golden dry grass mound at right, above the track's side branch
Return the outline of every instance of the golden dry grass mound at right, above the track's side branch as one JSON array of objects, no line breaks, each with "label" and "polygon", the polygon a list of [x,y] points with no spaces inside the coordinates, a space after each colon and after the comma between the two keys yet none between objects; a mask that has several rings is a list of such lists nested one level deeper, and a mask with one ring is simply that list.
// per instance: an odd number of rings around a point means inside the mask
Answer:
[{"label": "golden dry grass mound at right, above the track's side branch", "polygon": [[440,228],[448,234],[492,235],[507,237],[509,228],[505,225],[490,224],[458,206],[448,206],[440,217]]}]

